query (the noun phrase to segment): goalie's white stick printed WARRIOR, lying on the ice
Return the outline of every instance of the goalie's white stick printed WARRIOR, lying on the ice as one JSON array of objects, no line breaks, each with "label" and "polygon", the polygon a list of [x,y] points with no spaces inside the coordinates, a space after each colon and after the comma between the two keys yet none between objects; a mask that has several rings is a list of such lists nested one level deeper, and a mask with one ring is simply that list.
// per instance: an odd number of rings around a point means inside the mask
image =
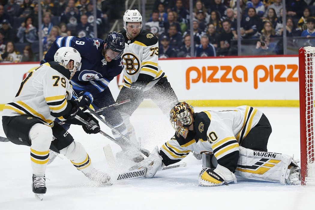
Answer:
[{"label": "goalie's white stick printed WARRIOR, lying on the ice", "polygon": [[[187,166],[187,163],[183,162],[180,164],[164,166],[164,167],[158,169],[157,171],[164,171],[164,170],[168,170],[168,169],[173,169],[173,168],[178,168],[178,167],[186,167],[186,166]],[[141,169],[136,169],[136,170],[120,173],[120,174],[118,174],[116,180],[134,179],[134,178],[144,177],[144,176],[146,176],[146,168],[141,168]]]}]

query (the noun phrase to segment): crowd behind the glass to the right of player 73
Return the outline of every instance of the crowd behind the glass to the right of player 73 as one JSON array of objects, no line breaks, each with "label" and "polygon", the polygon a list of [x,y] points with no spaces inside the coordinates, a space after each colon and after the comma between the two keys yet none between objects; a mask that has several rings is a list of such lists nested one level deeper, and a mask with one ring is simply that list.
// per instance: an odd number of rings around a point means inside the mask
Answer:
[{"label": "crowd behind the glass to the right of player 73", "polygon": [[[285,13],[282,0],[240,0],[239,35],[237,0],[193,2],[191,55],[189,1],[155,0],[146,29],[160,37],[160,58],[237,55],[238,36],[253,46],[250,54],[283,54],[284,14],[287,37],[315,37],[315,0],[286,0]],[[307,42],[314,46],[313,39]]]}]

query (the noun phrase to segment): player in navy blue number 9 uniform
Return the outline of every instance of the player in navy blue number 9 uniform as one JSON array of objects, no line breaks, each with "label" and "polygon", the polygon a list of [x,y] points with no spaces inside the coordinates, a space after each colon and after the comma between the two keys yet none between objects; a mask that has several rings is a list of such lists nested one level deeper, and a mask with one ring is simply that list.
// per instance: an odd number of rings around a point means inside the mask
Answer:
[{"label": "player in navy blue number 9 uniform", "polygon": [[[107,86],[123,70],[121,59],[125,48],[123,35],[113,31],[105,40],[73,36],[60,37],[54,41],[41,63],[54,60],[54,54],[60,47],[73,47],[81,54],[81,71],[71,79],[73,90],[82,97],[79,102],[80,107],[92,104],[95,109],[99,109],[115,103]],[[116,130],[129,138],[118,111],[104,111],[102,115]],[[119,135],[114,135],[114,137],[121,142],[120,146],[126,158],[135,162],[144,159],[137,149],[126,146],[122,137]]]}]

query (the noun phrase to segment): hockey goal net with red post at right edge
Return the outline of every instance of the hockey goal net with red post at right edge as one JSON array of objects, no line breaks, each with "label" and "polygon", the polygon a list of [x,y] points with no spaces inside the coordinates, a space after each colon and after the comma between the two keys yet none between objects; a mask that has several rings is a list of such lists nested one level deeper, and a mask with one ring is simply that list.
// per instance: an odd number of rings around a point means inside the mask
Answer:
[{"label": "hockey goal net with red post at right edge", "polygon": [[314,155],[314,72],[315,47],[303,47],[299,50],[299,86],[300,86],[300,135],[301,135],[301,182],[315,184]]}]

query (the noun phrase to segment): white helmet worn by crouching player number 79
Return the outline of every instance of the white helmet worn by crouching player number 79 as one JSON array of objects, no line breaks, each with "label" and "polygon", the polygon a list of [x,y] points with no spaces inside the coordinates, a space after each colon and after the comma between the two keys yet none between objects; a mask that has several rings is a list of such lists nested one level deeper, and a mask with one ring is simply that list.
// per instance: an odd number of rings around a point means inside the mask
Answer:
[{"label": "white helmet worn by crouching player number 79", "polygon": [[[81,68],[81,55],[80,53],[72,47],[61,47],[57,50],[54,55],[54,61],[67,65],[70,60],[73,60],[74,67],[77,71]],[[73,74],[73,69],[70,70],[71,75]]]}]

